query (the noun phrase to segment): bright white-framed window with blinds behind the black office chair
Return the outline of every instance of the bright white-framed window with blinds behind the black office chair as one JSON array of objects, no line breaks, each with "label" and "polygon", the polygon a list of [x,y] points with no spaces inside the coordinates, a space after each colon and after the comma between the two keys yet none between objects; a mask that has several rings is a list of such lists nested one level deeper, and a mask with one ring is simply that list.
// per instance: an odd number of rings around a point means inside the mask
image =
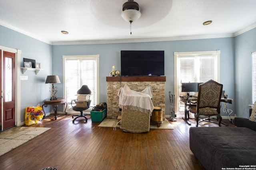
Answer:
[{"label": "bright white-framed window with blinds behind the black office chair", "polygon": [[76,92],[86,84],[92,91],[91,106],[99,100],[99,55],[63,56],[64,94],[66,101],[76,99]]}]

